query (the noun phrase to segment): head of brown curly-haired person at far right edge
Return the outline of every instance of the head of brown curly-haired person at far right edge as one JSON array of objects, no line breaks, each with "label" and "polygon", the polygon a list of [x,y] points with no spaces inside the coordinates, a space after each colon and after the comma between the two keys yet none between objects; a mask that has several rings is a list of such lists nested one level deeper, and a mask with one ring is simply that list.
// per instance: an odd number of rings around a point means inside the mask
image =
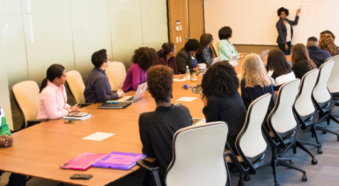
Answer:
[{"label": "head of brown curly-haired person at far right edge", "polygon": [[334,43],[335,38],[336,37],[334,37],[333,33],[329,30],[321,32],[318,47],[322,50],[327,50],[331,56],[338,55],[339,51],[336,44]]}]

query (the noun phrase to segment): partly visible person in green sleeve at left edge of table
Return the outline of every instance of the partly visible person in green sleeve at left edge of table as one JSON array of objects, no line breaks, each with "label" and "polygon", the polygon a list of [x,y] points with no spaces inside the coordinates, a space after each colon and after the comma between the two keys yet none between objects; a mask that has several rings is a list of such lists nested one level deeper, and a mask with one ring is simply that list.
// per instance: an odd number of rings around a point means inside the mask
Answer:
[{"label": "partly visible person in green sleeve at left edge of table", "polygon": [[[10,147],[13,141],[14,139],[12,137],[12,134],[10,133],[10,128],[8,127],[5,113],[0,107],[0,147]],[[3,172],[0,172],[0,176],[1,174],[3,174]],[[25,185],[25,181],[26,176],[12,173],[8,178],[8,183],[6,186],[23,186]]]}]

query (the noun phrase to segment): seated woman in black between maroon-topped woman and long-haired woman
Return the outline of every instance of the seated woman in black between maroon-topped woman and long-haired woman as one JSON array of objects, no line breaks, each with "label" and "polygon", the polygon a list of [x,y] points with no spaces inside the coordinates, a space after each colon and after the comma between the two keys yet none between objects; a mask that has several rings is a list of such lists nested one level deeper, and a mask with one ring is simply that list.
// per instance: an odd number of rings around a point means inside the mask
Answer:
[{"label": "seated woman in black between maroon-topped woman and long-haired woman", "polygon": [[185,74],[186,65],[189,68],[189,72],[198,70],[198,60],[193,56],[193,54],[196,53],[196,50],[198,50],[198,47],[198,40],[189,39],[185,43],[185,47],[176,54],[176,66],[178,67],[179,74]]}]

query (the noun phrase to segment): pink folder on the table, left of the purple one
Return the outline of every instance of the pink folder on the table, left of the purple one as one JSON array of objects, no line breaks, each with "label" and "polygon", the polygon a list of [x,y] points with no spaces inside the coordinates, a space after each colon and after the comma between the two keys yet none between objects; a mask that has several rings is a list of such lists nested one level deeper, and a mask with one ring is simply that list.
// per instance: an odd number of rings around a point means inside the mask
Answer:
[{"label": "pink folder on the table, left of the purple one", "polygon": [[92,166],[93,163],[99,161],[101,158],[105,157],[106,154],[98,153],[83,153],[75,158],[72,158],[70,161],[60,165],[62,169],[75,169],[75,170],[86,170]]}]

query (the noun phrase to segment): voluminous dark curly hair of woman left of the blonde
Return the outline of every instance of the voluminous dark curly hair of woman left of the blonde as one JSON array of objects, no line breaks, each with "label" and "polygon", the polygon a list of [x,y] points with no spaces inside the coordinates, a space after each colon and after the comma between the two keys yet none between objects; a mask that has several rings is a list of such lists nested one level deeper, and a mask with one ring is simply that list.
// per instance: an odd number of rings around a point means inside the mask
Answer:
[{"label": "voluminous dark curly hair of woman left of the blonde", "polygon": [[229,63],[218,62],[207,69],[201,82],[204,96],[227,97],[238,92],[239,79]]}]

